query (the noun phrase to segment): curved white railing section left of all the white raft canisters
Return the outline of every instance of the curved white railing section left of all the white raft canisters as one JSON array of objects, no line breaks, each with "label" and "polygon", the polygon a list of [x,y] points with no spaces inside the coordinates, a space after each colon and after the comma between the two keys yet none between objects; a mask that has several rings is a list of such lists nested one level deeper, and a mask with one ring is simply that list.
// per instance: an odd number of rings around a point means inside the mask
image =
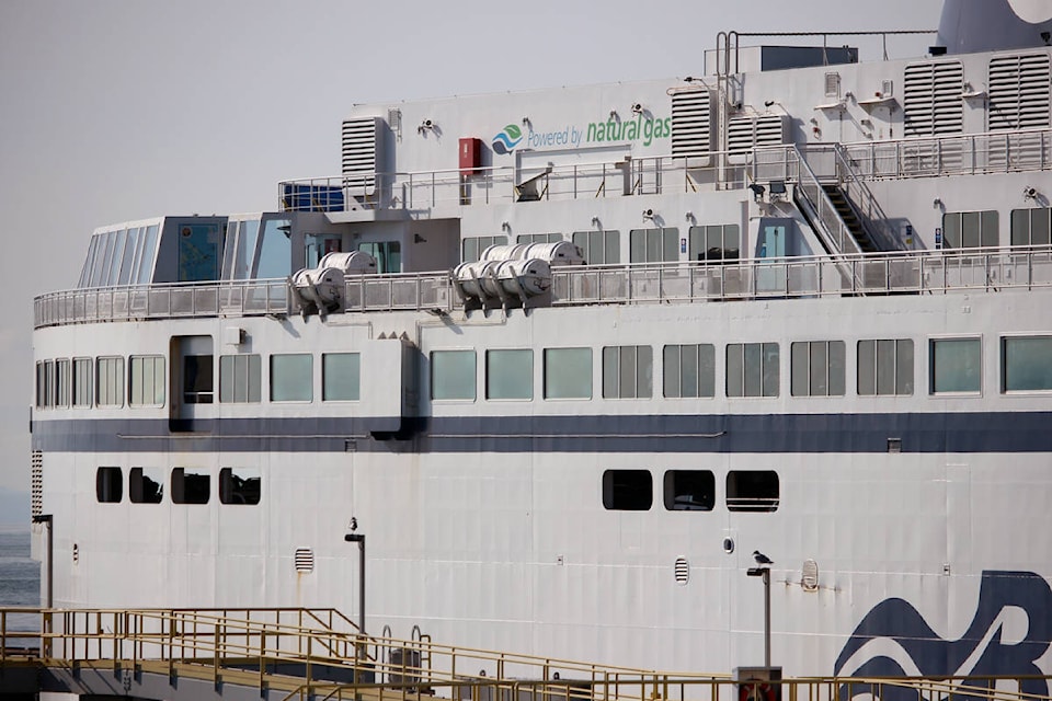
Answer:
[{"label": "curved white railing section left of all the white raft canisters", "polygon": [[34,300],[34,324],[287,313],[285,279],[93,287]]}]

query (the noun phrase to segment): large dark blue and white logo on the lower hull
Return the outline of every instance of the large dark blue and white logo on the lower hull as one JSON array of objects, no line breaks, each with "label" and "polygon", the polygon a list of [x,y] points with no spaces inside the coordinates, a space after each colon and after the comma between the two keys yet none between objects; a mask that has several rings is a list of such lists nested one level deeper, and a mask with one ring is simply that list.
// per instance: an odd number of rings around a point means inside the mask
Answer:
[{"label": "large dark blue and white logo on the lower hull", "polygon": [[[836,675],[1040,676],[1036,664],[1052,641],[1052,589],[1032,572],[984,572],[979,605],[959,640],[942,640],[903,599],[887,599],[862,618],[836,658]],[[841,701],[869,696],[865,685],[841,689]],[[1021,679],[1019,691],[1048,697],[1041,679]],[[954,694],[957,697],[957,694]],[[960,698],[967,698],[964,696]],[[885,688],[881,701],[916,701],[916,691]]]}]

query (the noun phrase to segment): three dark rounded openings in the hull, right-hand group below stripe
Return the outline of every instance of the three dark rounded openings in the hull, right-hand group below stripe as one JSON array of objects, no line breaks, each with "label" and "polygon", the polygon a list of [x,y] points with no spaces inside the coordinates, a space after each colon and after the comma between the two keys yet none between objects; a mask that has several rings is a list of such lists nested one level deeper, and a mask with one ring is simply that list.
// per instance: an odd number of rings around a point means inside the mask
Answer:
[{"label": "three dark rounded openings in the hull, right-hand group below stripe", "polygon": [[[670,512],[711,512],[716,508],[716,474],[710,470],[667,470],[662,501]],[[780,501],[774,470],[731,470],[724,482],[729,512],[776,512]],[[607,470],[603,473],[603,506],[616,512],[647,512],[654,502],[650,470]]]}]

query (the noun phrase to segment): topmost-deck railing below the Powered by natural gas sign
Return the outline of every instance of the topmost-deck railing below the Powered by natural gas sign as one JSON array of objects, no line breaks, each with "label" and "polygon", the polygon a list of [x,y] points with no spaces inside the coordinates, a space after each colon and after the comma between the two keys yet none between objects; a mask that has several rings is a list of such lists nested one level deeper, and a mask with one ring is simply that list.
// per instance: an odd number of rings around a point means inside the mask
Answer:
[{"label": "topmost-deck railing below the Powered by natural gas sign", "polygon": [[748,165],[725,154],[624,158],[594,163],[544,163],[378,173],[375,179],[312,177],[278,184],[282,211],[351,209],[433,212],[467,205],[602,199],[628,195],[691,194],[741,189]]}]

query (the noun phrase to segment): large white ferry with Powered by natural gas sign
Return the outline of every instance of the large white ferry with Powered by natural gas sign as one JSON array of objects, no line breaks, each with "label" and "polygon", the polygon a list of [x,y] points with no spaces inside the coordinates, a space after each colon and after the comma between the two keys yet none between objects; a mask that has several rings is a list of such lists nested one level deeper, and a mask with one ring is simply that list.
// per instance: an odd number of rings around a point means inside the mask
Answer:
[{"label": "large white ferry with Powered by natural gas sign", "polygon": [[1050,31],[355,105],[272,211],[96,229],[34,302],[44,602],[1052,673]]}]

